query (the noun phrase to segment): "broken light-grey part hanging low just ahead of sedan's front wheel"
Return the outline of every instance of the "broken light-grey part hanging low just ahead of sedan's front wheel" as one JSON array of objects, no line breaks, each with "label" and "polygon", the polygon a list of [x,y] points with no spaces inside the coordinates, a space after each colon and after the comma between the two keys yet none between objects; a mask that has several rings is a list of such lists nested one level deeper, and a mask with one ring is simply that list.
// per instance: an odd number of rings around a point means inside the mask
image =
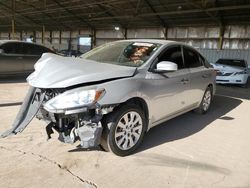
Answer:
[{"label": "broken light-grey part hanging low just ahead of sedan's front wheel", "polygon": [[95,147],[100,144],[102,125],[100,122],[98,124],[90,123],[79,127],[76,129],[76,132],[81,141],[82,148]]}]

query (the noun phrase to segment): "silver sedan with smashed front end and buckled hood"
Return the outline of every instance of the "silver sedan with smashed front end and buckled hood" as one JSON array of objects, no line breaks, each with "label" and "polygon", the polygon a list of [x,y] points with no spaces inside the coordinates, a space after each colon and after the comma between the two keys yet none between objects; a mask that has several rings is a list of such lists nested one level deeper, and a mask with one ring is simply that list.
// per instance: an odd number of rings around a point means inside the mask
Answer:
[{"label": "silver sedan with smashed front end and buckled hood", "polygon": [[126,156],[145,133],[180,114],[209,110],[214,69],[194,48],[167,40],[122,40],[80,58],[45,53],[27,78],[30,89],[7,137],[36,116],[65,143],[100,145]]}]

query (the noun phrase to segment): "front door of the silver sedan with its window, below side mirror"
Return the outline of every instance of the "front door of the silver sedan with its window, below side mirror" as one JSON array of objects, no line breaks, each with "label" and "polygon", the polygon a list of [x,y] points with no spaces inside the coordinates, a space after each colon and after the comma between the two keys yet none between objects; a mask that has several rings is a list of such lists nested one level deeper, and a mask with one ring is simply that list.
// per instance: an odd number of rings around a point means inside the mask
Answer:
[{"label": "front door of the silver sedan with its window, below side mirror", "polygon": [[164,74],[148,72],[146,75],[147,83],[144,87],[147,87],[148,96],[151,98],[153,124],[188,107],[189,69],[184,65],[181,47],[174,46],[163,51],[157,62],[161,61],[176,63],[178,70]]}]

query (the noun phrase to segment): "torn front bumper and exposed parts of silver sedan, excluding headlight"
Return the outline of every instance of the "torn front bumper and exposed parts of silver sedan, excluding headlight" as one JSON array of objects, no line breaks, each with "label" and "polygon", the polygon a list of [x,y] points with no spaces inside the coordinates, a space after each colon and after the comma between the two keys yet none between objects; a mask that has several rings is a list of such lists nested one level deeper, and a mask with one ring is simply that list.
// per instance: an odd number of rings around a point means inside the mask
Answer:
[{"label": "torn front bumper and exposed parts of silver sedan, excluding headlight", "polygon": [[59,133],[59,140],[65,143],[73,143],[80,140],[81,147],[90,148],[100,144],[102,135],[101,119],[104,111],[110,112],[113,108],[101,109],[97,103],[83,110],[70,111],[67,113],[51,113],[43,108],[48,100],[48,92],[39,88],[30,87],[12,128],[0,137],[22,132],[31,120],[36,116],[47,122],[46,132],[48,139],[54,130]]}]

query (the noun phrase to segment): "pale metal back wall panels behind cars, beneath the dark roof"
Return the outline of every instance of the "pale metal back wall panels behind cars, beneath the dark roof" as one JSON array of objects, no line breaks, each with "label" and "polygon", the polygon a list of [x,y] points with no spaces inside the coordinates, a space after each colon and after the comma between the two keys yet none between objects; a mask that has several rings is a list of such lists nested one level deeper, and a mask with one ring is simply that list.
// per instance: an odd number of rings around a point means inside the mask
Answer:
[{"label": "pale metal back wall panels behind cars, beneath the dark roof", "polygon": [[[215,62],[218,58],[241,58],[246,59],[250,65],[250,26],[225,26],[223,35],[223,50],[217,50],[219,46],[220,28],[213,26],[204,27],[170,27],[170,28],[143,28],[143,29],[124,29],[118,31],[114,29],[96,30],[96,46],[101,44],[121,40],[124,38],[154,38],[168,39],[187,43],[200,49],[209,62]],[[15,33],[15,39],[25,40],[34,35],[37,43],[42,43],[42,32],[22,32]],[[69,40],[73,49],[77,49],[78,37],[81,35],[91,35],[90,29],[78,31],[46,31],[44,45],[56,49],[67,49]],[[0,39],[9,39],[10,33],[0,32]]]}]

